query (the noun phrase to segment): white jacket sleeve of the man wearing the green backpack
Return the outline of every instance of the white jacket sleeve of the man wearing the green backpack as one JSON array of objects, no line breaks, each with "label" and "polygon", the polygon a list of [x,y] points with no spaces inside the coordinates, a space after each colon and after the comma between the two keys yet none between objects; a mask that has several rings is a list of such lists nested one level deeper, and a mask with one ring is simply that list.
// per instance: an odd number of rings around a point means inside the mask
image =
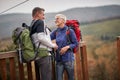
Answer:
[{"label": "white jacket sleeve of the man wearing the green backpack", "polygon": [[55,47],[55,44],[52,43],[50,37],[48,37],[44,32],[37,34],[39,42],[41,42],[43,45],[53,48]]}]

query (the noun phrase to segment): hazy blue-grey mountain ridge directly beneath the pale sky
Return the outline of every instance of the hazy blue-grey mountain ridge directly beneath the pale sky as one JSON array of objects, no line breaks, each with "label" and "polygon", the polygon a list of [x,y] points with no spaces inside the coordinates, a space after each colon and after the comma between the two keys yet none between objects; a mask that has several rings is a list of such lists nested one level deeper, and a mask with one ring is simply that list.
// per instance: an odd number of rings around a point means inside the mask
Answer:
[{"label": "hazy blue-grey mountain ridge directly beneath the pale sky", "polygon": [[[65,14],[68,19],[78,19],[81,24],[88,24],[120,18],[120,5],[73,8],[57,13]],[[57,13],[46,13],[45,22],[48,27],[55,25],[53,20]],[[0,38],[10,37],[13,29],[21,27],[23,22],[30,25],[31,20],[31,14],[13,13],[0,15]]]}]

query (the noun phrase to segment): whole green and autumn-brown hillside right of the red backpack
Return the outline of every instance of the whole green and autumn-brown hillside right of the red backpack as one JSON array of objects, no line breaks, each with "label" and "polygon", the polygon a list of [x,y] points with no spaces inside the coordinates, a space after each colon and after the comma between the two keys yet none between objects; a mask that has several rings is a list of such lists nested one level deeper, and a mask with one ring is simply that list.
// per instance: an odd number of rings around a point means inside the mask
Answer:
[{"label": "whole green and autumn-brown hillside right of the red backpack", "polygon": [[90,80],[120,80],[116,44],[120,19],[82,25],[81,31],[87,46]]}]

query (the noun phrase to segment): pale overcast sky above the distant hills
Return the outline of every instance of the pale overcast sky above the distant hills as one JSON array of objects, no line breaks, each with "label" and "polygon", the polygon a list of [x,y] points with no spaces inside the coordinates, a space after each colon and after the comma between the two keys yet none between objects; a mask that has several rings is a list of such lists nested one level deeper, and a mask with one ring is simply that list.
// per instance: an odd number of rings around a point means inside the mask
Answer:
[{"label": "pale overcast sky above the distant hills", "polygon": [[[20,4],[25,2],[19,6]],[[103,5],[120,5],[120,0],[0,0],[0,14],[31,13],[34,7],[42,7],[46,13],[59,12],[75,7],[95,7]]]}]

